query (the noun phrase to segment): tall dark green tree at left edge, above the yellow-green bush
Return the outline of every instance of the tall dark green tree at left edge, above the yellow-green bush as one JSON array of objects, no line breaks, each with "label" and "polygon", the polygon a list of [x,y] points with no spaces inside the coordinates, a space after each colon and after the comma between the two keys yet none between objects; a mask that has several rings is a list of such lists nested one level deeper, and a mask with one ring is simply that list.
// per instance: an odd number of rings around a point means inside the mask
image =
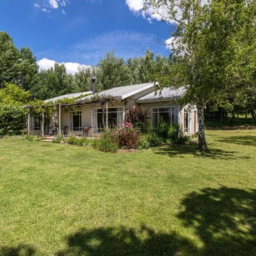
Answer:
[{"label": "tall dark green tree at left edge, above the yellow-green bush", "polygon": [[0,31],[0,88],[9,82],[29,90],[36,82],[37,73],[36,58],[29,47],[19,50],[11,37]]}]

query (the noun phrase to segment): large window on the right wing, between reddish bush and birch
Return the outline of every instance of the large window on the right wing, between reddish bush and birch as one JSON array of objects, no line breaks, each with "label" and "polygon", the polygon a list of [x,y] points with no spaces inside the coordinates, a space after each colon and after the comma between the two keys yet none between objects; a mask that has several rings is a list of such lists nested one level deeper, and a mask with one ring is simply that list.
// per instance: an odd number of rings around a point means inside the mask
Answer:
[{"label": "large window on the right wing, between reddish bush and birch", "polygon": [[178,107],[171,108],[153,108],[152,109],[152,125],[158,127],[159,122],[178,122]]}]

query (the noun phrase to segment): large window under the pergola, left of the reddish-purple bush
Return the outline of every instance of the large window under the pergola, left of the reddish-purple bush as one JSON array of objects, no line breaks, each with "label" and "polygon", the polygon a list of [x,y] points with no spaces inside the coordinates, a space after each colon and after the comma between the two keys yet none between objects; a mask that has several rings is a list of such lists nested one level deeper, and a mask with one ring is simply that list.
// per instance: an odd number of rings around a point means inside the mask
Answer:
[{"label": "large window under the pergola, left of the reddish-purple bush", "polygon": [[[93,108],[93,132],[100,132],[104,129],[102,123],[103,111],[102,108]],[[106,122],[106,109],[105,109],[105,122]],[[108,108],[108,127],[111,128],[116,123],[123,121],[123,108]]]}]

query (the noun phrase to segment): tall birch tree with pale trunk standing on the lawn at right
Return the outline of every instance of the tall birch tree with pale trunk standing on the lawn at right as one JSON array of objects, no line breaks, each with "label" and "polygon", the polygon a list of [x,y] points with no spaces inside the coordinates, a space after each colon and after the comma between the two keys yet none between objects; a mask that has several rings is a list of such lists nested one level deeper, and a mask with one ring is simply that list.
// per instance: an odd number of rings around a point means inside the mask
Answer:
[{"label": "tall birch tree with pale trunk standing on the lawn at right", "polygon": [[[250,41],[241,28],[255,31],[255,3],[241,0],[147,0],[145,10],[175,22],[172,33],[172,72],[163,81],[186,87],[182,103],[198,108],[200,150],[207,150],[204,109],[209,101],[223,99],[230,84],[237,84]],[[239,43],[234,43],[236,40]],[[247,65],[246,65],[247,66]],[[240,80],[240,79],[238,79]]]}]

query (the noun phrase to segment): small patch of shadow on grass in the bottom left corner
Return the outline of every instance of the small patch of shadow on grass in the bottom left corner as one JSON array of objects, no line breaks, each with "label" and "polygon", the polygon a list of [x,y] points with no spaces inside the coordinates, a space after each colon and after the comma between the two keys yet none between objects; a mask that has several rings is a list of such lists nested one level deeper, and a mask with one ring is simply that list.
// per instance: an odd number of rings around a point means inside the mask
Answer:
[{"label": "small patch of shadow on grass in the bottom left corner", "polygon": [[17,247],[0,247],[0,256],[33,256],[35,251],[30,245],[20,244]]}]

